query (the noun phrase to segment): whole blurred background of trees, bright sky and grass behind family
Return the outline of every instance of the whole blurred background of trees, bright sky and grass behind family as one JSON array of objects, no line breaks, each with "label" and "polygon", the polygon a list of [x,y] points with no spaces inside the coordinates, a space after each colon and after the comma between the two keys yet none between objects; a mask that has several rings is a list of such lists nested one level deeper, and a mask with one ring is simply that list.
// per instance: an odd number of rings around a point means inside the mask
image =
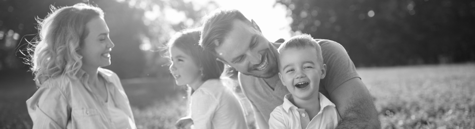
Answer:
[{"label": "whole blurred background of trees, bright sky and grass behind family", "polygon": [[[115,44],[105,68],[122,79],[139,129],[174,129],[187,114],[158,50],[219,7],[254,19],[271,42],[306,33],[342,44],[383,129],[475,128],[475,0],[0,0],[0,129],[32,127],[25,101],[36,87],[21,51],[35,18],[79,2],[105,12]],[[230,88],[254,129],[249,102]]]}]

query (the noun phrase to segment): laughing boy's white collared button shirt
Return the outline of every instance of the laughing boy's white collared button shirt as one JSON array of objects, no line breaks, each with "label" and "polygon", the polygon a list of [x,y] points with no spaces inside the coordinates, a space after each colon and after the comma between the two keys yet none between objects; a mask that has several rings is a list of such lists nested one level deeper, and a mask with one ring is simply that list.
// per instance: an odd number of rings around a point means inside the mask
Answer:
[{"label": "laughing boy's white collared button shirt", "polygon": [[320,111],[311,120],[305,109],[299,109],[289,101],[292,94],[286,94],[284,103],[270,114],[270,129],[334,129],[340,120],[335,104],[320,92],[319,98]]}]

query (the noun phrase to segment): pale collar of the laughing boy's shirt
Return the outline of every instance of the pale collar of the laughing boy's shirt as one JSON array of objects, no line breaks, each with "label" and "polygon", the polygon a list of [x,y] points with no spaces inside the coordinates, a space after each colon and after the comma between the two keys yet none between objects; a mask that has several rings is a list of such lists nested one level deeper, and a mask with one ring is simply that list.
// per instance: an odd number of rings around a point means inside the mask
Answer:
[{"label": "pale collar of the laughing boy's shirt", "polygon": [[[323,108],[327,106],[333,106],[336,107],[335,104],[333,104],[332,101],[330,101],[328,98],[325,97],[322,93],[318,92],[318,97],[320,98],[320,112],[323,111]],[[285,94],[284,96],[284,103],[282,104],[282,107],[284,108],[285,112],[289,112],[290,108],[293,109],[298,109],[297,106],[294,105],[290,100],[292,100],[292,94]]]}]

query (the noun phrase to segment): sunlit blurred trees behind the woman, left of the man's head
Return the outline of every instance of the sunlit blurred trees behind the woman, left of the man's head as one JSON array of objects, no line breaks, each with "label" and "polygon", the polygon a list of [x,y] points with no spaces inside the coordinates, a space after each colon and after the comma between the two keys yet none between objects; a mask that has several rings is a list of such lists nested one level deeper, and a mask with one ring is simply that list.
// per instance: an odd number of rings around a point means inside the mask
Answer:
[{"label": "sunlit blurred trees behind the woman, left of the man's head", "polygon": [[29,67],[21,67],[25,56],[19,50],[26,50],[27,41],[38,32],[35,17],[45,18],[49,5],[72,6],[79,2],[104,10],[115,44],[112,65],[106,68],[121,78],[168,75],[168,67],[161,67],[168,61],[152,51],[175,32],[200,26],[200,18],[217,8],[214,2],[193,4],[189,0],[0,0],[0,70]]}]

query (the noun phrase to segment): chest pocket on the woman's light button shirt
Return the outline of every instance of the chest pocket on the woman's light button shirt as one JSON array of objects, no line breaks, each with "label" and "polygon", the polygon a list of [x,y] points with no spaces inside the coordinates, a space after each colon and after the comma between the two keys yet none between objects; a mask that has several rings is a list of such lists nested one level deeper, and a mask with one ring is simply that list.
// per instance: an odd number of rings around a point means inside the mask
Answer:
[{"label": "chest pocket on the woman's light button shirt", "polygon": [[73,109],[71,112],[73,126],[77,129],[105,129],[100,112],[96,109]]}]

